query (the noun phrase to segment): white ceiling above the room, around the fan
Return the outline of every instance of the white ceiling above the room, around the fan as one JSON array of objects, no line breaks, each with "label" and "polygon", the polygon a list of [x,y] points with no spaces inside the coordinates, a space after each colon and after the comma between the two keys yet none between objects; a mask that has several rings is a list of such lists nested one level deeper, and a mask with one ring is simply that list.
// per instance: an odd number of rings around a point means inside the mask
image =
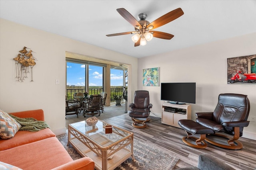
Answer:
[{"label": "white ceiling above the room, around the fan", "polygon": [[[130,34],[106,37],[134,31],[117,8],[149,22],[176,8],[184,15],[154,29],[171,40],[134,47]],[[0,18],[140,58],[256,32],[256,0],[0,0]]]}]

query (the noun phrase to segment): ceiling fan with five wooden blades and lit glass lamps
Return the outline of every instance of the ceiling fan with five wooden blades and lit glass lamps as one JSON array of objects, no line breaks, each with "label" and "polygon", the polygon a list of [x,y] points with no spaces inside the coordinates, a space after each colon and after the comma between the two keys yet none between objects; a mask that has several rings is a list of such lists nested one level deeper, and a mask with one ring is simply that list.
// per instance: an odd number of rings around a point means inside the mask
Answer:
[{"label": "ceiling fan with five wooden blades and lit glass lamps", "polygon": [[135,34],[132,36],[132,41],[135,43],[134,47],[139,45],[146,45],[147,41],[150,41],[153,37],[161,39],[172,39],[174,35],[160,31],[152,31],[152,29],[161,27],[162,25],[179,18],[184,14],[181,8],[177,8],[176,10],[168,12],[167,14],[150,23],[149,21],[146,21],[147,14],[145,13],[139,14],[138,19],[140,21],[137,21],[126,9],[118,8],[116,10],[124,19],[126,19],[130,24],[134,26],[135,31],[109,34],[106,36],[111,37],[116,35]]}]

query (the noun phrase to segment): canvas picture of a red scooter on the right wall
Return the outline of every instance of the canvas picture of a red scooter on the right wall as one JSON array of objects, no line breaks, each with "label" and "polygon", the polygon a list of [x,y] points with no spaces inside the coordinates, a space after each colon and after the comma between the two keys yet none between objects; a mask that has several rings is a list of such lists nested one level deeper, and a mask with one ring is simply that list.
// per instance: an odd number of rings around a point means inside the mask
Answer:
[{"label": "canvas picture of a red scooter on the right wall", "polygon": [[256,84],[256,54],[227,59],[228,84]]}]

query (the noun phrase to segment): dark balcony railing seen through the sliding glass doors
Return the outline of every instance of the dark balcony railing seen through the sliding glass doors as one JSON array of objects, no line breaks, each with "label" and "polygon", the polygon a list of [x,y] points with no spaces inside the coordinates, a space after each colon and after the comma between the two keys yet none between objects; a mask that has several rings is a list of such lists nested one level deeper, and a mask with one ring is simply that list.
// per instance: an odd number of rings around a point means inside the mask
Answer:
[{"label": "dark balcony railing seen through the sliding glass doors", "polygon": [[[82,92],[85,93],[86,90],[82,88],[72,88],[72,89],[66,89],[66,95],[68,100],[74,99],[73,94],[76,92]],[[89,95],[91,94],[100,94],[103,92],[103,88],[89,88]],[[120,95],[122,96],[124,92],[124,88],[110,88],[110,102],[114,102],[114,96],[115,95]],[[109,94],[107,94],[109,96]]]}]

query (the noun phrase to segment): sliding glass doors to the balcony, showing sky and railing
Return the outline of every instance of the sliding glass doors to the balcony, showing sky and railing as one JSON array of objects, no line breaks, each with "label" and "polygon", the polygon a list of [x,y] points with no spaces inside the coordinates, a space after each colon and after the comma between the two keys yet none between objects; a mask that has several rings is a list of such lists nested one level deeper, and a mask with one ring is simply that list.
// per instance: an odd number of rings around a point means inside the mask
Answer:
[{"label": "sliding glass doors to the balcony, showing sky and railing", "polygon": [[115,102],[114,96],[123,96],[124,90],[127,88],[126,84],[127,68],[123,65],[111,66],[110,64],[66,59],[66,95],[68,100],[74,99],[73,94],[76,92],[88,92],[89,95],[107,92],[107,96],[110,97],[108,102]]}]

